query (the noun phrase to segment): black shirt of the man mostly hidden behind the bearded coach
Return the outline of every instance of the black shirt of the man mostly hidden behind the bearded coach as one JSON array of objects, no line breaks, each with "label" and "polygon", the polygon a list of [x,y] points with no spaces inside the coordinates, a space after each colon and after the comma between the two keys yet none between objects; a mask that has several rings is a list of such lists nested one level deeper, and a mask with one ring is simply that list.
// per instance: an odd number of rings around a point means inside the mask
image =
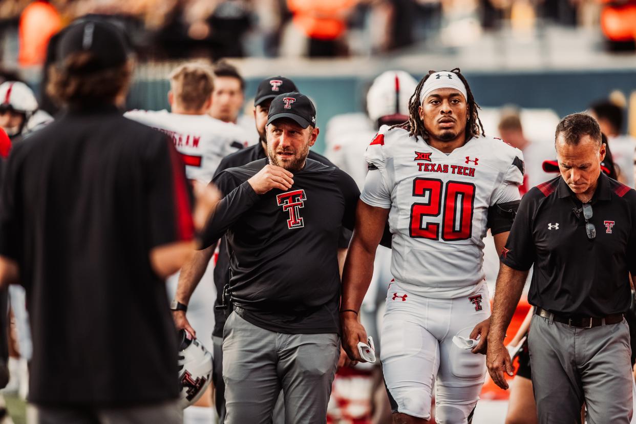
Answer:
[{"label": "black shirt of the man mostly hidden behind the bearded coach", "polygon": [[[218,168],[214,172],[214,177],[219,175],[222,171],[228,168],[236,168],[242,167],[243,165],[247,165],[247,163],[253,162],[255,160],[263,159],[266,157],[265,149],[259,142],[258,144],[254,144],[253,146],[247,147],[240,151],[237,151],[232,154],[228,154],[225,156],[221,163],[219,163]],[[309,159],[313,159],[315,161],[319,161],[323,165],[327,165],[328,167],[335,167],[331,161],[322,156],[322,154],[315,153],[314,151],[309,151],[307,156]],[[351,239],[351,231],[347,228],[343,228],[343,231],[340,233],[340,240],[338,240],[338,247],[341,249],[346,249],[349,246],[349,241]],[[230,282],[230,255],[228,254],[228,245],[225,237],[221,238],[221,243],[219,244],[219,255],[217,257],[216,265],[214,266],[214,285],[216,286],[216,301],[214,302],[214,306],[218,306],[221,304],[221,296],[223,296],[223,287]],[[214,331],[212,331],[212,335],[216,337],[223,337],[223,327],[225,326],[225,321],[230,315],[232,311],[232,305],[228,305],[226,309],[214,308]]]}]

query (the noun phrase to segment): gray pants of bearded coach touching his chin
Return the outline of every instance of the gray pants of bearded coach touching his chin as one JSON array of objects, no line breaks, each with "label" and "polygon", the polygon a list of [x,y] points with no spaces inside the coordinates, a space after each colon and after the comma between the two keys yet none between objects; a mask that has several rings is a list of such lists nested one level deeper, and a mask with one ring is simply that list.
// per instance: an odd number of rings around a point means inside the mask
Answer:
[{"label": "gray pants of bearded coach touching his chin", "polygon": [[286,424],[326,423],[340,337],[284,334],[233,312],[223,329],[226,424],[267,424],[284,393]]}]

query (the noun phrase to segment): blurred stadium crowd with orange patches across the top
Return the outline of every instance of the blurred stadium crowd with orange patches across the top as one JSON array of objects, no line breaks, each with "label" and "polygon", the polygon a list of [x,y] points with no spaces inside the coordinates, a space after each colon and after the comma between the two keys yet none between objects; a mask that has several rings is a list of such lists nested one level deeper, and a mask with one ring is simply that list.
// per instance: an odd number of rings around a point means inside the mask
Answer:
[{"label": "blurred stadium crowd with orange patches across the top", "polygon": [[125,27],[142,60],[368,56],[555,24],[600,27],[612,47],[633,49],[636,34],[633,0],[4,0],[4,62],[42,64],[48,37],[83,15]]}]

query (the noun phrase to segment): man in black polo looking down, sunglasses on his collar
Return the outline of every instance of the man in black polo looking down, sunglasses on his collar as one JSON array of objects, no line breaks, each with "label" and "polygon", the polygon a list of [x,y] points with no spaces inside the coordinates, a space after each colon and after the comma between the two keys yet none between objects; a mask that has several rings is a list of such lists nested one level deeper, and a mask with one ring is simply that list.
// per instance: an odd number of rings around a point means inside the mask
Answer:
[{"label": "man in black polo looking down, sunglasses on his collar", "polygon": [[629,423],[632,373],[630,274],[636,273],[636,191],[600,172],[597,121],[585,114],[556,127],[560,177],[531,189],[502,251],[488,334],[497,385],[512,375],[502,341],[534,264],[528,337],[540,423]]}]

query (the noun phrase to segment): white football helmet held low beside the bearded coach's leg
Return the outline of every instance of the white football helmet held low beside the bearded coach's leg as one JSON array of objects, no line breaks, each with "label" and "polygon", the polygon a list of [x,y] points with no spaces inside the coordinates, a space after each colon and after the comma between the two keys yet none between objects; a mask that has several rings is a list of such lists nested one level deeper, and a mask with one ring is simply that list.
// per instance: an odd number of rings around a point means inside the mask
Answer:
[{"label": "white football helmet held low beside the bearded coach's leg", "polygon": [[193,338],[179,330],[179,390],[184,409],[203,395],[212,381],[212,353]]}]

